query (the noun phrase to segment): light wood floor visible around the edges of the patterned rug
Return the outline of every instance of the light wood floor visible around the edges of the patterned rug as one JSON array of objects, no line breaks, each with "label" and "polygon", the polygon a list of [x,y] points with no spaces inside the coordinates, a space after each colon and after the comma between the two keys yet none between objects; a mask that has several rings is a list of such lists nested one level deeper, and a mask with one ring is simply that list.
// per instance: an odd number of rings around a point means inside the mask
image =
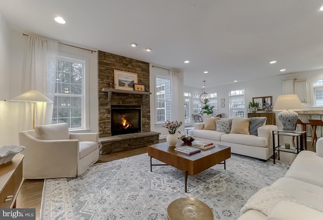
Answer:
[{"label": "light wood floor visible around the edges of the patterned rug", "polygon": [[[314,147],[310,141],[307,141],[307,150],[314,151]],[[147,147],[135,148],[127,151],[120,151],[111,154],[99,155],[99,159],[96,163],[108,162],[116,159],[130,157],[142,153],[147,153]],[[281,153],[282,161],[293,161],[296,154]],[[36,219],[39,220],[40,215],[40,203],[42,196],[44,180],[24,180],[21,190],[17,197],[17,208],[35,208]]]}]

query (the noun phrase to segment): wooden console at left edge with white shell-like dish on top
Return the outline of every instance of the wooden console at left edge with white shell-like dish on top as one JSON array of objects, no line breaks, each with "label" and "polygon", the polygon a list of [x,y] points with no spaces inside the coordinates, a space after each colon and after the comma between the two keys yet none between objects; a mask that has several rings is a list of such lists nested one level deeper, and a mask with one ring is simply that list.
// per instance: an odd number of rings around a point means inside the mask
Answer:
[{"label": "wooden console at left edge with white shell-like dish on top", "polygon": [[16,198],[23,183],[22,160],[18,153],[12,161],[0,165],[0,208],[15,208]]}]

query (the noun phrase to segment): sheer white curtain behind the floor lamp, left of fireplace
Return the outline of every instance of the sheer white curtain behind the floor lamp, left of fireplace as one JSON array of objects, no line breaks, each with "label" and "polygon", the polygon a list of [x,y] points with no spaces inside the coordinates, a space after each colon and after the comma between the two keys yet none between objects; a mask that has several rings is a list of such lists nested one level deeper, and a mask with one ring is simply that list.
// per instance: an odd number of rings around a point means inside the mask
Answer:
[{"label": "sheer white curtain behind the floor lamp, left of fireplace", "polygon": [[[22,92],[38,90],[50,100],[54,98],[58,42],[28,36],[28,50],[22,74]],[[35,125],[51,123],[53,103],[37,102]],[[25,104],[23,128],[32,128],[32,103]]]}]

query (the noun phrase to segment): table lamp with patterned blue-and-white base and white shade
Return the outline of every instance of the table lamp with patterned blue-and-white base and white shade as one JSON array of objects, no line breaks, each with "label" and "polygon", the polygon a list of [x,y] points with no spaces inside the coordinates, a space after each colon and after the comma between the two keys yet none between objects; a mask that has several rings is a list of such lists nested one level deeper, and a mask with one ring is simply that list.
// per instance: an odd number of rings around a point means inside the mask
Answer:
[{"label": "table lamp with patterned blue-and-white base and white shade", "polygon": [[303,106],[295,94],[279,95],[274,105],[274,111],[282,111],[278,114],[278,119],[285,131],[295,130],[298,114],[293,111],[300,110],[303,110]]}]

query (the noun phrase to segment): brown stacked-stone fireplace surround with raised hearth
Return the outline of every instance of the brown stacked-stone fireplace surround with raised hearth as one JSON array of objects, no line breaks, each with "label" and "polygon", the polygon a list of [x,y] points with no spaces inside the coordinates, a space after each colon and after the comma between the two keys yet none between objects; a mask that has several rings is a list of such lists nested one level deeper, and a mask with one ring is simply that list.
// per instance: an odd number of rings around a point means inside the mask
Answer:
[{"label": "brown stacked-stone fireplace surround with raised hearth", "polygon": [[[109,52],[98,51],[98,131],[100,154],[158,143],[160,133],[150,131],[149,95],[136,91],[111,90],[110,83],[114,84],[114,70],[136,73],[138,83],[145,84],[146,93],[149,94],[148,63]],[[111,136],[111,105],[122,104],[141,105],[141,133]]]}]

